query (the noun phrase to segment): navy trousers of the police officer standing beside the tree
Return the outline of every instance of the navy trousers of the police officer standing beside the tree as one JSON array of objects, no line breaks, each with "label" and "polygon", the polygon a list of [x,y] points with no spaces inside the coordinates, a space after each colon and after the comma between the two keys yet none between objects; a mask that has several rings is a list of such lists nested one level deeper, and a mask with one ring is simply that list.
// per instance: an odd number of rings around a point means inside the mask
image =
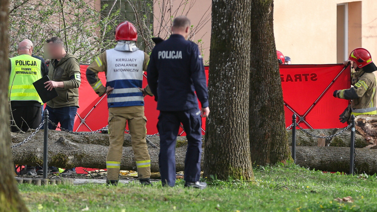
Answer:
[{"label": "navy trousers of the police officer standing beside the tree", "polygon": [[188,142],[184,180],[196,182],[200,179],[201,111],[198,108],[185,111],[160,111],[157,128],[160,134],[159,169],[162,186],[175,186],[175,145],[181,123],[185,129]]}]

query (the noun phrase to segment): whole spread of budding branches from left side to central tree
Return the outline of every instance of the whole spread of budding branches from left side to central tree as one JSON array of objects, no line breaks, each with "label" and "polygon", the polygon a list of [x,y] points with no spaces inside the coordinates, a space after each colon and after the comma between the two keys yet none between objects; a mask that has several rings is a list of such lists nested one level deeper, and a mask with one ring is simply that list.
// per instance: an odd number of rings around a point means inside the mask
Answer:
[{"label": "whole spread of budding branches from left side to central tree", "polygon": [[[61,37],[66,50],[74,53],[81,64],[89,64],[103,50],[115,45],[115,27],[130,21],[138,31],[138,46],[150,53],[154,47],[152,37],[166,39],[170,35],[170,26],[175,16],[186,14],[192,5],[188,0],[180,4],[175,11],[168,10],[169,0],[112,1],[101,0],[100,8],[95,0],[14,0],[9,5],[9,57],[17,55],[17,45],[23,39],[34,43],[34,54],[43,57],[43,44],[51,37]],[[192,4],[192,2],[190,2]],[[199,2],[198,2],[199,3]],[[153,6],[161,12],[156,17]],[[179,4],[179,3],[178,3]],[[132,8],[125,11],[124,8]],[[181,11],[179,14],[178,11]],[[130,14],[132,17],[130,18]],[[192,26],[193,39],[202,25],[210,21],[207,11],[198,26]]]}]

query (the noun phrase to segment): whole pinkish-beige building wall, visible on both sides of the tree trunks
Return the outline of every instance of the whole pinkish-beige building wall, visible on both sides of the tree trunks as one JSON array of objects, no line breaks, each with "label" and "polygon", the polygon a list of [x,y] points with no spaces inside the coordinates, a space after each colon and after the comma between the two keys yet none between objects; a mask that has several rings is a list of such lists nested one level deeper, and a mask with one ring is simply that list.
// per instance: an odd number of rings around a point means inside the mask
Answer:
[{"label": "whole pinkish-beige building wall, visible on both sides of the tree trunks", "polygon": [[[158,2],[160,4],[158,4]],[[161,3],[171,2],[162,12]],[[211,0],[155,0],[153,5],[155,35],[170,31],[170,15],[187,15],[195,31],[193,41],[202,40],[204,59],[208,60],[211,35]],[[340,4],[344,4],[344,11]],[[343,5],[344,6],[344,5]],[[169,11],[172,11],[170,12]],[[183,12],[182,12],[183,11]],[[377,0],[275,0],[274,34],[277,50],[290,56],[293,64],[340,63],[356,47],[368,49],[377,60]],[[344,26],[347,12],[348,24]],[[161,14],[165,14],[161,24]],[[205,22],[203,19],[206,19]],[[343,22],[342,22],[343,21]],[[344,30],[348,28],[348,34]],[[165,35],[164,35],[165,34]],[[348,39],[347,39],[348,38]],[[345,48],[345,41],[348,42]],[[346,53],[344,49],[347,49]]]}]

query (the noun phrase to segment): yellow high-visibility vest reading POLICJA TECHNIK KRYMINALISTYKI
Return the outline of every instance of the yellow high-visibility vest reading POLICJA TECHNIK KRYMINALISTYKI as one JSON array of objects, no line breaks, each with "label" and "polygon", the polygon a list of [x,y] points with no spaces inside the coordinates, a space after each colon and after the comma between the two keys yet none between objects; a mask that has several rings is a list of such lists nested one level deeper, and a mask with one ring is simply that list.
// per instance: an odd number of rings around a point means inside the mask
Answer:
[{"label": "yellow high-visibility vest reading POLICJA TECHNIK KRYMINALISTYKI", "polygon": [[19,55],[11,59],[8,95],[11,101],[37,101],[42,103],[33,82],[42,78],[40,59]]}]

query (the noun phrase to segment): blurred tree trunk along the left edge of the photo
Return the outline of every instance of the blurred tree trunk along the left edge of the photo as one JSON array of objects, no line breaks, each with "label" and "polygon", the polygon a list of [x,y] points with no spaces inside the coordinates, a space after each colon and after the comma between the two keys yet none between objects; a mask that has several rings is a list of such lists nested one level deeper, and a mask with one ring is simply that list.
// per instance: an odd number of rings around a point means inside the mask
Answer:
[{"label": "blurred tree trunk along the left edge of the photo", "polygon": [[14,180],[8,106],[8,0],[0,0],[0,207],[2,211],[29,211]]}]

